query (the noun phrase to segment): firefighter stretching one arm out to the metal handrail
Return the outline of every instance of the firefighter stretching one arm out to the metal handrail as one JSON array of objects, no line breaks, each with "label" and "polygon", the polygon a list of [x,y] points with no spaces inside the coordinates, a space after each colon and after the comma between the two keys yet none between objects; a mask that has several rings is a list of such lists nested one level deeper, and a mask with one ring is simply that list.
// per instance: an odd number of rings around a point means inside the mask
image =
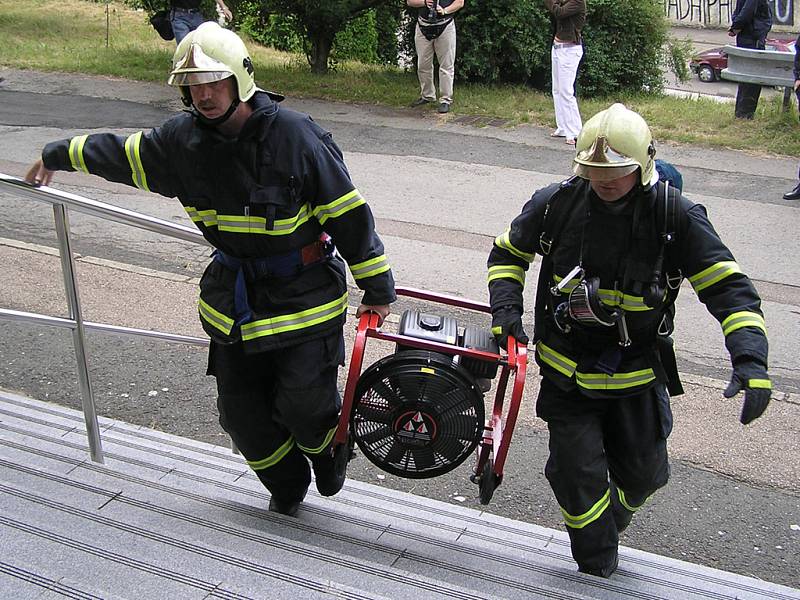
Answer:
[{"label": "firefighter stretching one arm out to the metal handrail", "polygon": [[330,133],[256,87],[235,33],[212,22],[191,32],[168,83],[190,111],[127,137],[48,144],[26,180],[46,185],[55,170],[80,170],[177,196],[215,248],[199,313],[220,423],[270,491],[270,510],[294,515],[309,461],[329,496],[349,459],[346,445],[331,449],[348,304],[340,255],[364,290],[358,315],[389,313],[391,270]]}]

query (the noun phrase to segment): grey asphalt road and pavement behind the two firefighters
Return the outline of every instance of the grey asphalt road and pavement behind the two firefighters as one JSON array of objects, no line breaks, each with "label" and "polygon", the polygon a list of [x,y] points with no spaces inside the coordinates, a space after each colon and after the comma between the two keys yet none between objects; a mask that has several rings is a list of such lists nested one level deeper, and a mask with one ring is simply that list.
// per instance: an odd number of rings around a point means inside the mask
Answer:
[{"label": "grey asphalt road and pavement behind the two firefighters", "polygon": [[[5,173],[20,174],[50,139],[87,129],[147,127],[177,108],[169,90],[159,91],[157,86],[139,86],[134,92],[129,91],[130,84],[109,80],[0,75],[7,78],[0,86],[0,172]],[[135,100],[114,99],[122,95]],[[493,236],[536,187],[567,173],[569,149],[549,139],[546,131],[531,127],[476,129],[458,125],[453,116],[443,119],[316,102],[289,104],[307,110],[334,132],[355,181],[378,216],[398,280],[413,287],[484,298],[482,273]],[[800,273],[793,257],[800,213],[796,203],[780,197],[794,185],[796,163],[692,147],[662,145],[659,151],[680,166],[687,193],[709,207],[740,262],[757,280],[773,332],[771,366],[780,399],[769,418],[747,430],[735,426],[735,406],[720,409],[721,403],[710,399],[719,397],[720,382],[728,373],[722,338],[691,291],[684,290],[679,356],[681,371],[692,383],[687,397],[675,402],[679,431],[671,440],[672,480],[637,515],[623,543],[800,587],[800,479],[792,470],[800,463],[796,395]],[[84,175],[59,174],[56,181],[60,189],[186,222],[174,201]],[[54,246],[49,207],[0,190],[0,215],[0,238]],[[77,252],[129,265],[132,271],[149,268],[197,276],[208,254],[203,247],[81,215],[73,215],[72,225]],[[8,283],[0,290],[0,305],[30,310],[43,296],[60,294],[57,270],[46,273],[44,267],[34,268],[32,259],[22,260],[18,267],[13,263],[19,252],[0,244],[3,248],[0,277]],[[114,280],[122,295],[93,305],[98,314],[120,324],[128,324],[125,321],[140,310],[142,319],[163,325],[156,322],[159,313],[179,305],[179,295],[189,298],[194,293],[187,289],[179,294],[178,285],[169,284],[176,290],[174,296],[160,297],[150,283],[124,273],[118,271]],[[88,278],[87,287],[100,281],[100,288],[111,285],[98,275]],[[130,288],[126,291],[123,284]],[[93,292],[85,296],[95,301]],[[154,308],[148,310],[150,303]],[[481,322],[474,316],[464,320]],[[169,329],[168,325],[164,326]],[[65,332],[13,323],[4,323],[3,331],[0,385],[80,406]],[[105,334],[90,336],[90,344],[90,356],[97,357],[92,376],[102,414],[226,443],[216,424],[211,382],[202,377],[201,349],[152,340],[121,342]],[[535,377],[529,378],[525,414],[515,432],[506,477],[487,510],[560,528],[560,515],[542,473],[547,434],[532,415],[535,387]],[[702,428],[706,418],[709,425],[722,428]],[[706,449],[713,450],[710,456],[703,454]],[[442,477],[411,481],[384,475],[361,458],[351,464],[350,474],[477,506],[477,490],[468,480],[469,462]]]}]

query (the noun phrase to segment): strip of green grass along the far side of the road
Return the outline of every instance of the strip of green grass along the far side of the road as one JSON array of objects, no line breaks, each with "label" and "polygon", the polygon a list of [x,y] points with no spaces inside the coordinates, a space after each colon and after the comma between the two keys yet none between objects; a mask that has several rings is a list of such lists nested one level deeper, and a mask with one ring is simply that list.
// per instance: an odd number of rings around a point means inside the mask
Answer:
[{"label": "strip of green grass along the far side of the road", "polygon": [[[112,2],[108,8],[107,40],[103,2],[0,0],[0,65],[165,81],[174,42],[159,38],[144,13],[120,2]],[[317,76],[303,56],[253,42],[248,46],[259,85],[289,96],[405,107],[418,94],[413,71],[343,62],[334,72]],[[613,101],[641,112],[658,141],[800,154],[796,111],[783,112],[780,98],[762,99],[753,121],[734,119],[729,104],[654,95],[579,98],[581,113],[588,118]],[[456,81],[453,113],[495,116],[512,125],[555,125],[552,99],[523,86],[489,87]]]}]

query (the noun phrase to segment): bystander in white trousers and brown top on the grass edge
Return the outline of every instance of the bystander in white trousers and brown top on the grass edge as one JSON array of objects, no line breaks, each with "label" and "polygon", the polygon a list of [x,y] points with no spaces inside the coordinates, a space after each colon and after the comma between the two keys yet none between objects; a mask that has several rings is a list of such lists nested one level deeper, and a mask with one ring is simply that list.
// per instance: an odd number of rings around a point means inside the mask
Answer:
[{"label": "bystander in white trousers and brown top on the grass edge", "polygon": [[556,130],[551,135],[566,138],[567,144],[575,145],[582,126],[575,99],[575,77],[583,58],[581,30],[586,22],[586,2],[544,0],[544,3],[556,21],[556,35],[550,51]]}]

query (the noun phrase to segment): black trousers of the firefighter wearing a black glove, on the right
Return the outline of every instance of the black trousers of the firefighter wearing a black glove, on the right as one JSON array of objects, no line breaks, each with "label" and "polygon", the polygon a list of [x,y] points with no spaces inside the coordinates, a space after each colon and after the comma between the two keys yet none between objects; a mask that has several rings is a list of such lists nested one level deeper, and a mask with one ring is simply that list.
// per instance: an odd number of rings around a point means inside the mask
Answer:
[{"label": "black trousers of the firefighter wearing a black glove, on the right", "polygon": [[550,431],[545,475],[565,513],[572,556],[582,569],[609,567],[619,531],[669,479],[667,390],[656,385],[635,396],[591,399],[544,378],[536,411]]}]

